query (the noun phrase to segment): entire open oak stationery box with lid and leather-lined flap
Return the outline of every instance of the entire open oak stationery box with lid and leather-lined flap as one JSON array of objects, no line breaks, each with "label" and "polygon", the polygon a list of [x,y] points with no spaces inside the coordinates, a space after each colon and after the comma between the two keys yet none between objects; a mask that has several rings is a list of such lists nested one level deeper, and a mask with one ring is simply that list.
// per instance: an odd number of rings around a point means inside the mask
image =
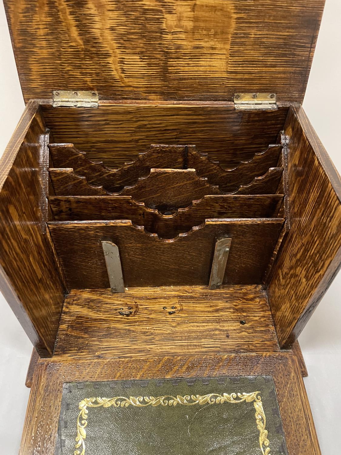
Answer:
[{"label": "entire open oak stationery box with lid and leather-lined flap", "polygon": [[320,454],[296,340],[341,264],[301,107],[323,4],[5,0],[22,455]]}]

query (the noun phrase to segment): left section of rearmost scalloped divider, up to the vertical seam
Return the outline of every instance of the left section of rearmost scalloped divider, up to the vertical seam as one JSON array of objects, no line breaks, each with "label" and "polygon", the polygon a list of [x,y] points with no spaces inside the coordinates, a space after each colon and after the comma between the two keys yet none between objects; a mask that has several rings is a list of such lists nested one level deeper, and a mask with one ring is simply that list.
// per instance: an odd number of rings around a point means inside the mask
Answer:
[{"label": "left section of rearmost scalloped divider, up to the vertical seam", "polygon": [[152,168],[184,169],[186,145],[152,144],[148,152],[139,153],[133,162],[119,169],[110,169],[103,162],[90,161],[85,152],[73,144],[50,144],[54,167],[73,168],[92,185],[101,185],[108,192],[119,192],[133,185],[140,177],[147,177]]}]

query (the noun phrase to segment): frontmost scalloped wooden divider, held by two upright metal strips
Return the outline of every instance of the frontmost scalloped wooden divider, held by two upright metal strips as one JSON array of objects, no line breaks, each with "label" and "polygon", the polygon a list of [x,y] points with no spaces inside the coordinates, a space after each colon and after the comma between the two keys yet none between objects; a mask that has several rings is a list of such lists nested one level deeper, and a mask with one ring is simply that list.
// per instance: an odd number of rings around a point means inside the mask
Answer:
[{"label": "frontmost scalloped wooden divider, held by two upright metal strips", "polygon": [[101,247],[115,243],[125,287],[207,285],[216,238],[232,238],[224,284],[260,284],[283,219],[206,220],[172,240],[130,221],[49,222],[69,288],[109,288]]}]

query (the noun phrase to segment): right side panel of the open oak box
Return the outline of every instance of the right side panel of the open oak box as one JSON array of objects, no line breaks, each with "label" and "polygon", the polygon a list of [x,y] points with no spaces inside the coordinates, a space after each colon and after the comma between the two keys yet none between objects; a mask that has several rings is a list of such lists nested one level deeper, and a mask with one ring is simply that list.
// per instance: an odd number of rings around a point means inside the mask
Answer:
[{"label": "right side panel of the open oak box", "polygon": [[268,293],[279,343],[290,347],[341,265],[341,182],[302,107],[285,133],[290,232]]}]

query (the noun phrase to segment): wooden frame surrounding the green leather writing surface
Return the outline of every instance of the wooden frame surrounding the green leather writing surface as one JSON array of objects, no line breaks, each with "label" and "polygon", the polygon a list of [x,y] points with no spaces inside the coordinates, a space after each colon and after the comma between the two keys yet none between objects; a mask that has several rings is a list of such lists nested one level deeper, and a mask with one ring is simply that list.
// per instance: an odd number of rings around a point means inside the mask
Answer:
[{"label": "wooden frame surrounding the green leather writing surface", "polygon": [[20,455],[54,455],[64,382],[256,374],[274,379],[288,454],[321,455],[301,372],[296,357],[289,353],[41,360],[30,392]]}]

